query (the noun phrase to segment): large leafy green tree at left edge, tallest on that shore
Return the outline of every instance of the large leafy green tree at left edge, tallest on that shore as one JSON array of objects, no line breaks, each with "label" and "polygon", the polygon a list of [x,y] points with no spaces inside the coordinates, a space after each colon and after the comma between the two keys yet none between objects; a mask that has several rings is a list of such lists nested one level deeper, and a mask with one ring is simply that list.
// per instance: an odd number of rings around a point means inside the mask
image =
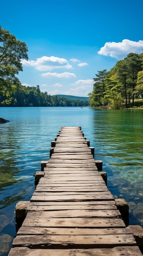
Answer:
[{"label": "large leafy green tree at left edge, tallest on that shore", "polygon": [[25,42],[16,40],[13,34],[0,26],[0,93],[10,102],[11,92],[19,87],[16,77],[22,71],[21,59],[28,60],[28,48]]}]

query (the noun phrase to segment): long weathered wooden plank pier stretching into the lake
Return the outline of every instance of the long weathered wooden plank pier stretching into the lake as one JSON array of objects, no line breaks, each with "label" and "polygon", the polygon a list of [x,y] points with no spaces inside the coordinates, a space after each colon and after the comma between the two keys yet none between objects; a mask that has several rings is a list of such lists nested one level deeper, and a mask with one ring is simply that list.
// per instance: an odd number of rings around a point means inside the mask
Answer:
[{"label": "long weathered wooden plank pier stretching into the lake", "polygon": [[9,256],[141,256],[81,128],[61,128]]}]

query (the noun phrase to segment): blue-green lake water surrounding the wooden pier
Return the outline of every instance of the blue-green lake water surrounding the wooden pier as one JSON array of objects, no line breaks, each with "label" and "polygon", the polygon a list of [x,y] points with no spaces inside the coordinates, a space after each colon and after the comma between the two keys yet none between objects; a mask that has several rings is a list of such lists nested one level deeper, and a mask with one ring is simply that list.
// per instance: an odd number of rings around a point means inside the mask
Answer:
[{"label": "blue-green lake water surrounding the wooden pier", "polygon": [[15,204],[30,200],[33,173],[49,159],[62,126],[81,126],[103,161],[108,189],[130,206],[130,224],[143,226],[143,111],[91,108],[0,108],[0,255],[15,236]]}]

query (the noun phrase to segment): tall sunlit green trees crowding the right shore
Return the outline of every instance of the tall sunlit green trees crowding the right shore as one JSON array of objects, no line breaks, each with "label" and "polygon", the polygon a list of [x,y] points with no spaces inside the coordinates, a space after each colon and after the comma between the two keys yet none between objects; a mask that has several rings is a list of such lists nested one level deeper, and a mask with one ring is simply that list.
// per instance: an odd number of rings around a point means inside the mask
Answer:
[{"label": "tall sunlit green trees crowding the right shore", "polygon": [[98,71],[93,91],[88,94],[90,106],[119,109],[134,99],[143,98],[143,53],[130,53],[117,61],[111,70]]}]

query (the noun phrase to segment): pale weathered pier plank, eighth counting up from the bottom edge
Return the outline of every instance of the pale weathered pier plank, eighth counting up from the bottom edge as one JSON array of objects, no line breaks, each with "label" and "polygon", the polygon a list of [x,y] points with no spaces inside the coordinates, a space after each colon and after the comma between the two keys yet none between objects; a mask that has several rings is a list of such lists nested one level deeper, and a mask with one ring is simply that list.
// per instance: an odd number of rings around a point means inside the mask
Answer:
[{"label": "pale weathered pier plank, eighth counting up from the bottom edge", "polygon": [[32,195],[31,201],[106,201],[106,200],[114,200],[112,195],[37,195],[35,193]]}]

